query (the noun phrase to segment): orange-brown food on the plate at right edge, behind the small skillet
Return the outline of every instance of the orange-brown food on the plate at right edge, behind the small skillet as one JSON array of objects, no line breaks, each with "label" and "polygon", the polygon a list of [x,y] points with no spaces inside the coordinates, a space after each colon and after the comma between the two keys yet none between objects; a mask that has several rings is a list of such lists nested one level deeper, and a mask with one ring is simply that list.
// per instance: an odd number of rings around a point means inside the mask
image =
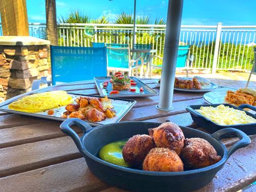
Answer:
[{"label": "orange-brown food on the plate at right edge, behind the small skillet", "polygon": [[256,90],[241,88],[237,91],[227,91],[224,102],[233,105],[250,104],[256,106]]}]

